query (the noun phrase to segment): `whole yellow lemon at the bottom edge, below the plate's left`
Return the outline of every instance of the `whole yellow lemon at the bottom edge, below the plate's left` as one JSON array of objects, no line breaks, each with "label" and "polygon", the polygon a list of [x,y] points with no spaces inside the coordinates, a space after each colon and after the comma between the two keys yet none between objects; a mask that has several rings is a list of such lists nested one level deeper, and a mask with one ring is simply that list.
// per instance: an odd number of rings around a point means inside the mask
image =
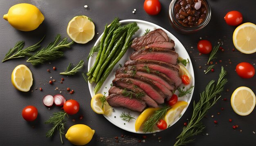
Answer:
[{"label": "whole yellow lemon at the bottom edge, below the plate's left", "polygon": [[94,132],[95,131],[92,130],[89,126],[84,124],[76,124],[67,130],[65,137],[72,144],[83,146],[91,141]]}]

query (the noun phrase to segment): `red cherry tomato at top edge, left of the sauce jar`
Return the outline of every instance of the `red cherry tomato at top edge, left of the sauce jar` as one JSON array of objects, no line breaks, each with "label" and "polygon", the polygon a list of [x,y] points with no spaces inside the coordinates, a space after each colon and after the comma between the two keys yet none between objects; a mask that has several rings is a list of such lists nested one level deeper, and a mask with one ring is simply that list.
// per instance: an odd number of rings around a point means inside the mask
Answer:
[{"label": "red cherry tomato at top edge, left of the sauce jar", "polygon": [[149,15],[157,15],[161,11],[161,3],[159,0],[145,0],[144,10]]}]

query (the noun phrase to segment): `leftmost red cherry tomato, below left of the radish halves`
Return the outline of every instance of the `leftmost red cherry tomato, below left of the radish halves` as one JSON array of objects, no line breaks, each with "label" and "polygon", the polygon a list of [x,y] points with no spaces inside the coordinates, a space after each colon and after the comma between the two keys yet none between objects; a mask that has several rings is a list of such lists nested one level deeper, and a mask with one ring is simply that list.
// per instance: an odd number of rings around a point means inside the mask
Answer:
[{"label": "leftmost red cherry tomato, below left of the radish halves", "polygon": [[34,121],[37,117],[38,111],[35,106],[26,106],[22,110],[22,117],[26,121]]}]

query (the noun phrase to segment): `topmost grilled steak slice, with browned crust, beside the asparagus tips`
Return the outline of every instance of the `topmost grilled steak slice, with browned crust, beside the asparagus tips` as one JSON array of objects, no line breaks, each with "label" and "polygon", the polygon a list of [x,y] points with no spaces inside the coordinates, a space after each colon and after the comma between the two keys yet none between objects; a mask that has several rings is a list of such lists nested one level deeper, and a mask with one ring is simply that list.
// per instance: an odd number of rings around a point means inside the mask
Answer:
[{"label": "topmost grilled steak slice, with browned crust, beside the asparagus tips", "polygon": [[134,38],[132,40],[131,47],[136,51],[141,47],[147,46],[148,44],[152,44],[153,42],[165,42],[168,41],[164,36],[159,33],[157,30],[151,31],[146,35],[140,36],[138,38]]}]

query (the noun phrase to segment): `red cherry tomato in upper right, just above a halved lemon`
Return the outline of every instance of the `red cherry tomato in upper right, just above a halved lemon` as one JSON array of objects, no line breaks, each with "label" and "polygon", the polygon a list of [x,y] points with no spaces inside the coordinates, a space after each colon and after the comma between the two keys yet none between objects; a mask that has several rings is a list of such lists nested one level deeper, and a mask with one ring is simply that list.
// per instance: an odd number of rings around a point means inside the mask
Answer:
[{"label": "red cherry tomato in upper right, just above a halved lemon", "polygon": [[237,26],[242,23],[243,15],[238,11],[230,11],[225,15],[224,19],[227,24]]}]

